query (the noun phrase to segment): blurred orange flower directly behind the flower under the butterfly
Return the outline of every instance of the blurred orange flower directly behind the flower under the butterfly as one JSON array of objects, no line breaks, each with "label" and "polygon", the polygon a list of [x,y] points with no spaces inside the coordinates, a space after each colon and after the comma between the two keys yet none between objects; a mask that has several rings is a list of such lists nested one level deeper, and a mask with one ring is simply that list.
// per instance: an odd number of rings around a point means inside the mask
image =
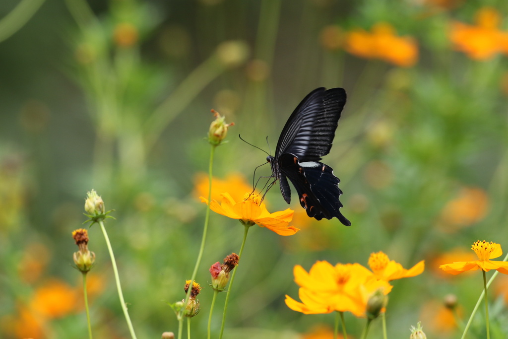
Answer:
[{"label": "blurred orange flower directly behind the flower under the butterfly", "polygon": [[[208,197],[208,174],[198,173],[194,179],[195,196]],[[228,192],[235,201],[243,199],[245,192],[251,192],[245,177],[239,173],[230,173],[225,179],[212,178],[212,200],[222,199],[220,194]]]}]

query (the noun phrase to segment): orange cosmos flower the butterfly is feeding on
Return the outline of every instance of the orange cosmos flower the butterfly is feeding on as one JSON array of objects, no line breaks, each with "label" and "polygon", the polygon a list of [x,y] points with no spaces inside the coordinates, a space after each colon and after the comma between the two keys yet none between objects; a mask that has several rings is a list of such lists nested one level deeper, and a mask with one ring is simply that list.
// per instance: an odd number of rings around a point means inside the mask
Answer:
[{"label": "orange cosmos flower the butterfly is feeding on", "polygon": [[212,211],[231,219],[237,219],[244,225],[257,224],[278,235],[293,235],[299,231],[298,228],[289,226],[293,219],[293,210],[290,208],[270,213],[265,204],[261,202],[261,197],[253,193],[246,193],[244,199],[238,202],[229,193],[223,193],[221,196],[220,204],[216,200],[208,203],[207,199],[203,197],[200,199],[207,203]]}]

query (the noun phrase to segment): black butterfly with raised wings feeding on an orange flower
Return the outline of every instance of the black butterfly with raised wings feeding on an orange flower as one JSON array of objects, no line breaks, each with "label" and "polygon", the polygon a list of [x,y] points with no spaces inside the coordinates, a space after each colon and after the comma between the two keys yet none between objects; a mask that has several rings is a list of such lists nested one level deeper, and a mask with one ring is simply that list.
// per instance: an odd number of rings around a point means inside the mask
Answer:
[{"label": "black butterfly with raised wings feeding on an orange flower", "polygon": [[[346,103],[343,88],[317,88],[298,105],[280,133],[275,156],[266,160],[272,167],[272,176],[279,180],[282,197],[289,204],[291,189],[295,186],[300,204],[307,215],[317,220],[336,217],[351,226],[339,208],[339,178],[330,166],[319,160],[332,148],[342,108]],[[275,181],[274,181],[275,182]],[[272,183],[273,184],[273,183]]]}]

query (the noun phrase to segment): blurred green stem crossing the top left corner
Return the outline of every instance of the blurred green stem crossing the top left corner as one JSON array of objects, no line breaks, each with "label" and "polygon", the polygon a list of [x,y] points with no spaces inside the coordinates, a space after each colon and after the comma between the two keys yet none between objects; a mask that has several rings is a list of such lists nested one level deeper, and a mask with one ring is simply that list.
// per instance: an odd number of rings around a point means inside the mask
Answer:
[{"label": "blurred green stem crossing the top left corner", "polygon": [[18,32],[28,20],[44,4],[45,0],[22,0],[18,5],[0,20],[0,42],[10,38]]}]

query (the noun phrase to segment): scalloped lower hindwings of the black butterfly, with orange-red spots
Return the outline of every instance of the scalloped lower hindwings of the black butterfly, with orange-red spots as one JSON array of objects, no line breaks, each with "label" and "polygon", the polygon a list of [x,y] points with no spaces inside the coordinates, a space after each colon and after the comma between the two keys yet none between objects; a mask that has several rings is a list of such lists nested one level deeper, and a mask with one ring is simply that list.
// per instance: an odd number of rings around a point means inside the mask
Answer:
[{"label": "scalloped lower hindwings of the black butterfly, with orange-red spots", "polygon": [[[333,175],[330,166],[317,161],[300,163],[297,157],[288,153],[280,157],[279,164],[281,178],[284,177],[285,185],[288,185],[286,176],[291,180],[298,193],[300,204],[309,217],[316,220],[336,217],[342,224],[351,225],[340,213],[339,208],[342,207],[339,201],[342,194],[338,187],[340,180]],[[280,189],[284,192],[282,182],[281,180]]]}]

